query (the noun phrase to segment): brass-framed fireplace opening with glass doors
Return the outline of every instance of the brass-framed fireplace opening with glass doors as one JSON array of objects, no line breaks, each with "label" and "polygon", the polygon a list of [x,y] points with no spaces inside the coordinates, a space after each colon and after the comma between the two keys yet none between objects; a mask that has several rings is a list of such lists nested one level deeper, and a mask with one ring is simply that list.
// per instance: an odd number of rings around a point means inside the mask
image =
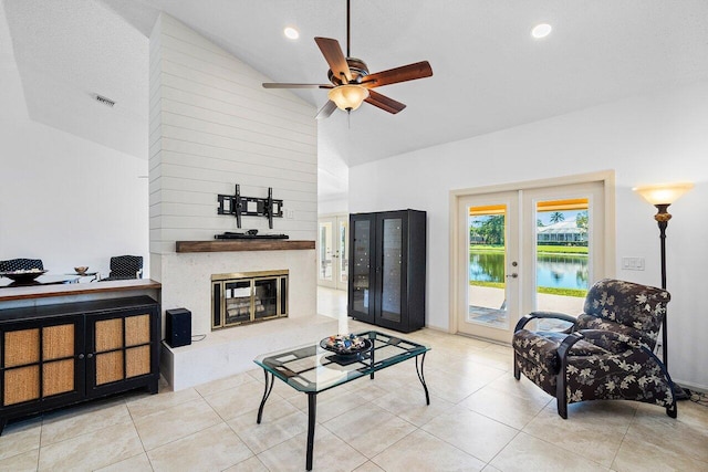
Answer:
[{"label": "brass-framed fireplace opening with glass doors", "polygon": [[211,329],[288,316],[288,270],[211,275]]}]

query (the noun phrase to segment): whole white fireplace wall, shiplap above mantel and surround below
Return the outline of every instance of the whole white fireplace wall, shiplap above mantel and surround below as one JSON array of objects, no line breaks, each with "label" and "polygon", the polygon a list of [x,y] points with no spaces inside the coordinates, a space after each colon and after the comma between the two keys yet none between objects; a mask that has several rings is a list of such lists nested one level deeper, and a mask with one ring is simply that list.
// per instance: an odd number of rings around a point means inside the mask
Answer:
[{"label": "whole white fireplace wall, shiplap above mantel and surround below", "polygon": [[272,187],[292,213],[272,230],[266,218],[243,217],[243,230],[315,240],[316,109],[262,82],[270,80],[160,14],[150,36],[150,274],[163,284],[163,310],[191,311],[192,334],[210,333],[214,273],[288,269],[289,316],[316,313],[314,250],[175,252],[175,241],[238,230],[236,218],[217,214],[217,195],[233,195],[236,183],[247,197],[268,197]]}]

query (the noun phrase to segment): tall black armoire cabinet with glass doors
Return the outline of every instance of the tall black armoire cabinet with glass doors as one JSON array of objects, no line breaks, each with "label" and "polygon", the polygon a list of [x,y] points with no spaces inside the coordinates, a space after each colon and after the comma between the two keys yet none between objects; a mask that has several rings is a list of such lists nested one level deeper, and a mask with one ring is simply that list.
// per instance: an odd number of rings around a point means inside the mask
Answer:
[{"label": "tall black armoire cabinet with glass doors", "polygon": [[350,216],[348,315],[403,333],[425,326],[426,213]]}]

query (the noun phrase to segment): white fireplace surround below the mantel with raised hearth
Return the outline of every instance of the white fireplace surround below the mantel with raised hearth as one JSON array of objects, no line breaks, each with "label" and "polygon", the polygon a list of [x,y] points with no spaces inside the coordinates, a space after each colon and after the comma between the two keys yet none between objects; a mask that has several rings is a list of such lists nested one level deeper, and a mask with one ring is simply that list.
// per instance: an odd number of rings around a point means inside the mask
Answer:
[{"label": "white fireplace surround below the mantel with raised hearth", "polygon": [[[319,339],[337,329],[336,319],[316,315],[314,249],[156,255],[163,313],[189,310],[192,336],[206,335],[204,340],[177,348],[163,343],[160,373],[175,390],[251,369],[259,354]],[[289,271],[288,317],[212,332],[211,274],[270,270]]]}]

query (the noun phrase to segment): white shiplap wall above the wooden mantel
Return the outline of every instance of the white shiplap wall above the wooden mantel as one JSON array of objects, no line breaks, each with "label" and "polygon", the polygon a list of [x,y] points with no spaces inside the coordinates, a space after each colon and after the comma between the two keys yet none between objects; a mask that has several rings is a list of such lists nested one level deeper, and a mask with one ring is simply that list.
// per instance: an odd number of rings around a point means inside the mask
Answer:
[{"label": "white shiplap wall above the wooden mantel", "polygon": [[[150,252],[175,251],[178,240],[209,240],[236,230],[217,216],[217,195],[282,199],[292,219],[273,232],[316,234],[315,109],[287,91],[267,91],[268,77],[162,14],[150,38]],[[243,228],[269,231],[264,218]]]}]

